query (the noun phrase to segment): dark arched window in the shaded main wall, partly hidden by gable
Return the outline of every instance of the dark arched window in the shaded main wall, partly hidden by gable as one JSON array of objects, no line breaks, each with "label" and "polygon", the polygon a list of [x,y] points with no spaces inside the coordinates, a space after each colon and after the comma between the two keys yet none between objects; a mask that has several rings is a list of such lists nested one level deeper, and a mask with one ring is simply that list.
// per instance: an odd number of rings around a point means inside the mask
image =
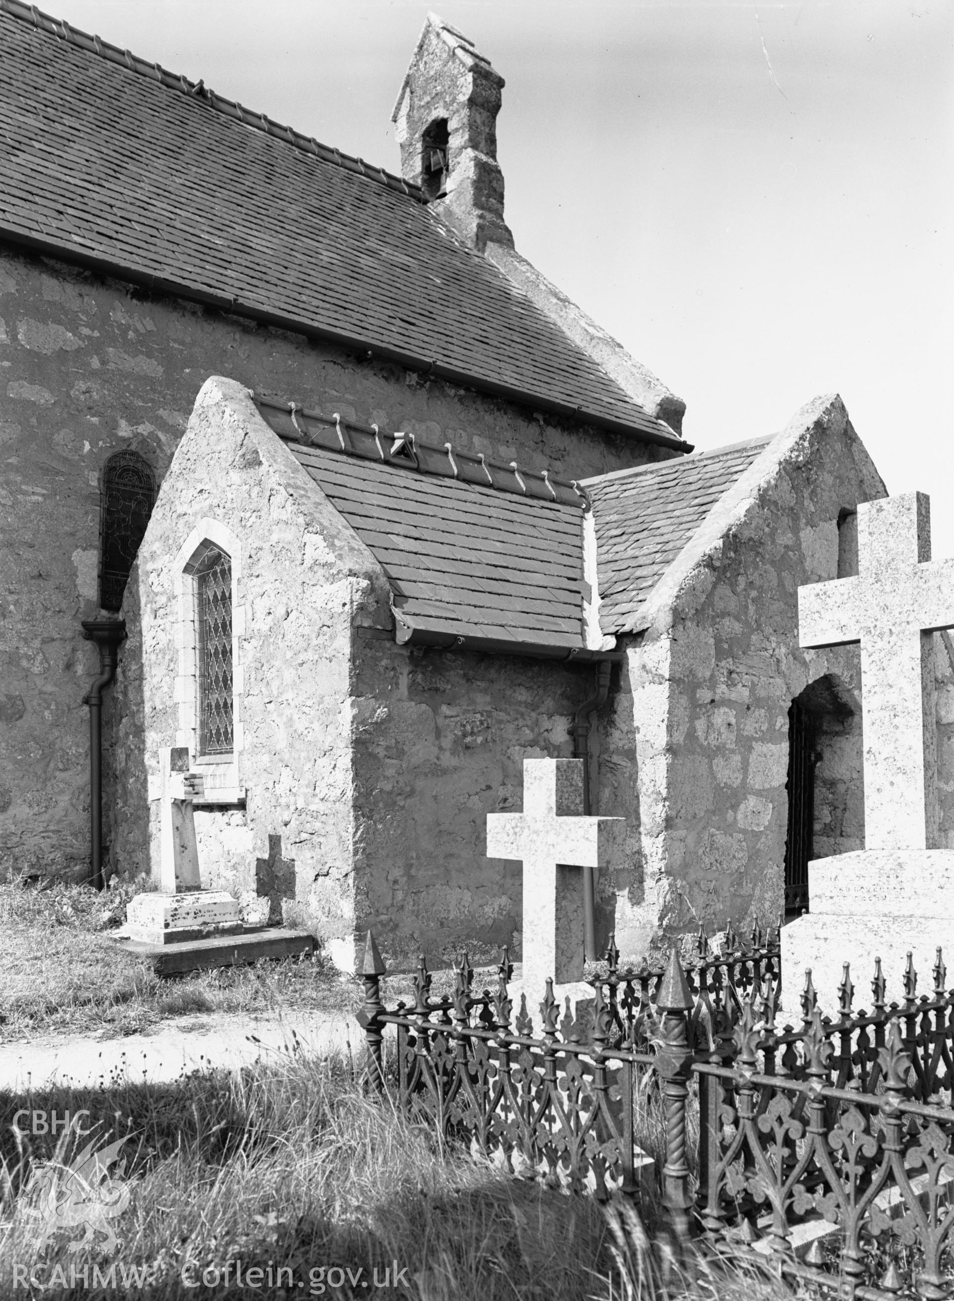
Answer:
[{"label": "dark arched window in the shaded main wall, partly hidden by gable", "polygon": [[138,451],[117,451],[103,467],[99,515],[99,604],[118,610],[129,571],[156,500],[156,480]]}]

